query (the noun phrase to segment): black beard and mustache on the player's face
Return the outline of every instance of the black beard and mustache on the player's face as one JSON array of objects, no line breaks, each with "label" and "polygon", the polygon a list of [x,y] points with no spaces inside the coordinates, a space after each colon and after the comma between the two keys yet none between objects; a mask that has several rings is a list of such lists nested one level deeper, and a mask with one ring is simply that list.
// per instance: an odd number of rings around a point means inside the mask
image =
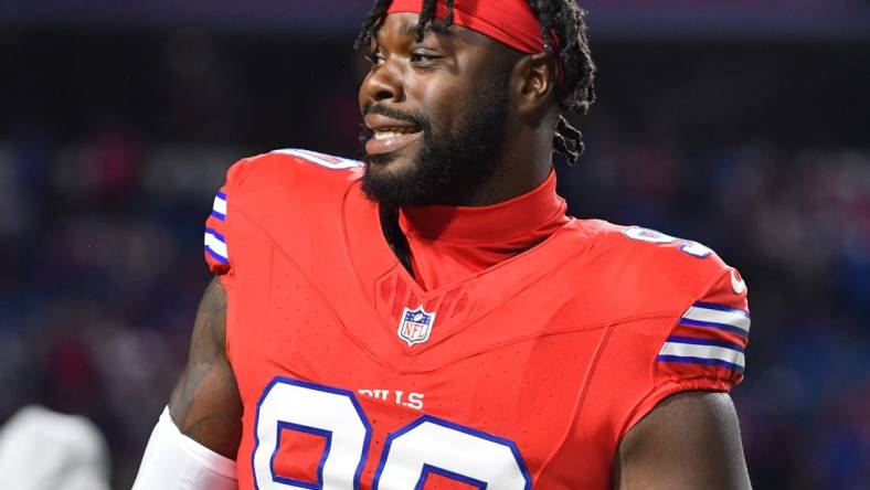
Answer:
[{"label": "black beard and mustache on the player's face", "polygon": [[[365,173],[362,191],[372,201],[397,209],[421,205],[461,205],[478,193],[499,170],[508,114],[508,77],[495,78],[484,96],[457,117],[445,135],[435,135],[428,119],[421,114],[397,114],[381,106],[367,113],[413,122],[422,128],[423,145],[415,164],[400,173],[372,172],[371,166],[385,166],[395,156],[363,158]],[[374,135],[363,126],[360,141]]]}]

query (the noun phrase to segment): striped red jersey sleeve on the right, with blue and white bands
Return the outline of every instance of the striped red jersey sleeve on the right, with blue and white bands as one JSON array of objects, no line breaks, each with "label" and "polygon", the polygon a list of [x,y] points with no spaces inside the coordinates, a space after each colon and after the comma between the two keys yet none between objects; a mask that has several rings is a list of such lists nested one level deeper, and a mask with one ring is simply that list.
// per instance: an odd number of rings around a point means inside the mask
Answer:
[{"label": "striped red jersey sleeve on the right, with blue and white bands", "polygon": [[751,323],[746,292],[740,273],[725,267],[670,326],[650,360],[652,388],[633,411],[625,430],[668,396],[728,393],[743,380]]}]

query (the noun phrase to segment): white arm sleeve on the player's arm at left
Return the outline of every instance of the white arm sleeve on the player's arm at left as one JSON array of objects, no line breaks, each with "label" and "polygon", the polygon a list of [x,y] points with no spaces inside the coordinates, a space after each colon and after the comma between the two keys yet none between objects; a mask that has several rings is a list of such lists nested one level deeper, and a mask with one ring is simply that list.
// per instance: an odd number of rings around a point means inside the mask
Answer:
[{"label": "white arm sleeve on the player's arm at left", "polygon": [[169,407],[151,433],[132,490],[235,490],[235,461],[181,434]]}]

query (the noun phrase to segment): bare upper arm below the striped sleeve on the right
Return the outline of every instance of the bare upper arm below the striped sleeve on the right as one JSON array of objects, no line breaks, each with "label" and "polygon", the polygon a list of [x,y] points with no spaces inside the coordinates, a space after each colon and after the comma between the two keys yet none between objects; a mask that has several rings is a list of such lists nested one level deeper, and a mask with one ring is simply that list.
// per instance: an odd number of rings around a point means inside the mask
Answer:
[{"label": "bare upper arm below the striped sleeve on the right", "polygon": [[724,393],[682,393],[660,403],[623,439],[614,488],[751,488],[740,426]]}]

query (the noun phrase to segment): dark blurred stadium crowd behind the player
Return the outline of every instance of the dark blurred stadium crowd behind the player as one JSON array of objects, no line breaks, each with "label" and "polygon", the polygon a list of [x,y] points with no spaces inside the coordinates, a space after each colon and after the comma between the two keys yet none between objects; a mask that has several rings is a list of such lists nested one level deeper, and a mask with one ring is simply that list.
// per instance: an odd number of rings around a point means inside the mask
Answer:
[{"label": "dark blurred stadium crowd behind the player", "polygon": [[[129,488],[187,355],[226,167],[360,155],[351,34],[0,33],[0,420],[28,403],[88,416]],[[733,396],[761,489],[870,481],[869,46],[594,42],[590,150],[558,167],[573,214],[697,239],[743,273]]]}]

